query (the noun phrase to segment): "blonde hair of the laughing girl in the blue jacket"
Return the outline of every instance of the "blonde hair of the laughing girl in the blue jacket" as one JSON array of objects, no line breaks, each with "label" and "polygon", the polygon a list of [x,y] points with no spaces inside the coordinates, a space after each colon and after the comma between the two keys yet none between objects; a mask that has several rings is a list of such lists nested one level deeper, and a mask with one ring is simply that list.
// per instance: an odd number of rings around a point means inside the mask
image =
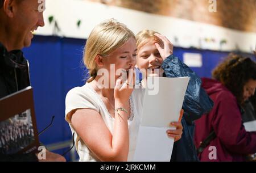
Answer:
[{"label": "blonde hair of the laughing girl in the blue jacket", "polygon": [[145,44],[147,44],[149,41],[154,40],[157,43],[162,43],[162,41],[156,37],[154,34],[158,33],[152,30],[144,29],[141,32],[139,32],[136,35],[136,41],[137,41],[137,49],[141,49]]}]

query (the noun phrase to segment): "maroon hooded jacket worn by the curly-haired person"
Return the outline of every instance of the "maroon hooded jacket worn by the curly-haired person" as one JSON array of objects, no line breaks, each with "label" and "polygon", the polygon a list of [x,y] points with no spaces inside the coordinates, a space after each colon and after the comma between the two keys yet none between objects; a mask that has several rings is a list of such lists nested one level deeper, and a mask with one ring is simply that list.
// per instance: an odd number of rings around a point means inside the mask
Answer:
[{"label": "maroon hooded jacket worn by the curly-haired person", "polygon": [[[195,145],[205,140],[214,130],[216,138],[199,154],[200,161],[245,161],[245,156],[256,153],[256,132],[246,132],[236,97],[214,79],[203,78],[202,87],[214,102],[208,115],[196,120]],[[216,147],[217,159],[212,159]]]}]

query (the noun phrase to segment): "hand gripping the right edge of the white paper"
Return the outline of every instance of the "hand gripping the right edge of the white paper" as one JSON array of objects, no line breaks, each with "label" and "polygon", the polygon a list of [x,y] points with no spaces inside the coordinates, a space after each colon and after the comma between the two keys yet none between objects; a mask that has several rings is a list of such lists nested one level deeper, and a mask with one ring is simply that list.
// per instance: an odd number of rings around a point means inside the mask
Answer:
[{"label": "hand gripping the right edge of the white paper", "polygon": [[181,136],[182,136],[182,130],[183,130],[183,126],[181,124],[181,119],[183,116],[184,110],[181,109],[180,111],[180,117],[179,117],[179,121],[178,122],[174,122],[171,123],[171,126],[175,126],[176,130],[167,130],[167,134],[169,137],[173,137],[174,138],[174,142],[179,141]]}]

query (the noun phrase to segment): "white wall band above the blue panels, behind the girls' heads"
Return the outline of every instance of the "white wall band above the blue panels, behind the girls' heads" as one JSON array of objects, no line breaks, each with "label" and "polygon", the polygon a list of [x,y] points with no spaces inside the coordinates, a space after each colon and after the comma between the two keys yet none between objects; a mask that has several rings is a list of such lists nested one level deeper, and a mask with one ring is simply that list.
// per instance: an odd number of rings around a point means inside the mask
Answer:
[{"label": "white wall band above the blue panels, behind the girls' heads", "polygon": [[[46,26],[38,29],[36,34],[53,35],[53,24],[48,22],[48,17],[52,15],[61,29],[57,35],[64,37],[86,39],[96,24],[115,18],[125,23],[134,33],[142,29],[154,29],[166,35],[174,45],[184,48],[231,51],[235,50],[237,45],[240,50],[249,53],[256,48],[256,33],[253,32],[241,32],[84,0],[48,0],[44,12]],[[76,24],[78,20],[81,20],[80,28]],[[175,41],[175,37],[178,41]],[[205,38],[215,41],[205,41]],[[221,40],[227,41],[222,48]]]}]

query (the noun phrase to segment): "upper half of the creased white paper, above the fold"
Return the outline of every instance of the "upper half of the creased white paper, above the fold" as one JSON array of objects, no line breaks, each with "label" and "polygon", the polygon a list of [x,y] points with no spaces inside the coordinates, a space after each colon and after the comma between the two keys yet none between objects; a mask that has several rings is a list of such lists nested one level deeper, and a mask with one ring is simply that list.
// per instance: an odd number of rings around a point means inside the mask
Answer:
[{"label": "upper half of the creased white paper, above the fold", "polygon": [[141,126],[170,127],[179,120],[189,78],[159,78],[158,94],[146,94]]}]

